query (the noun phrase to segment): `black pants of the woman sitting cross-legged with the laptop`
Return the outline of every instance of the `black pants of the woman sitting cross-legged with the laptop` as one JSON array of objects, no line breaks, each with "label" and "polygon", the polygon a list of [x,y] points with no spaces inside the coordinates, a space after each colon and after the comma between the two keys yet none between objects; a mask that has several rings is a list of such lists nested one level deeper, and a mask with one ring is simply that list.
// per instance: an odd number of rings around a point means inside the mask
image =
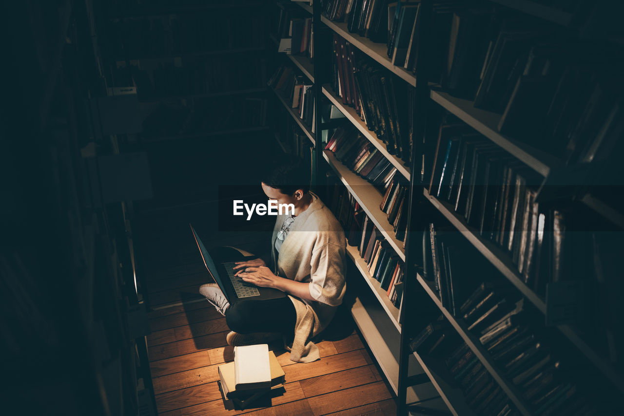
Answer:
[{"label": "black pants of the woman sitting cross-legged with the laptop", "polygon": [[[210,250],[215,263],[240,261],[240,252],[231,247]],[[295,333],[296,311],[288,297],[257,301],[241,299],[225,311],[228,327],[239,334],[250,332],[281,332],[286,336]]]}]

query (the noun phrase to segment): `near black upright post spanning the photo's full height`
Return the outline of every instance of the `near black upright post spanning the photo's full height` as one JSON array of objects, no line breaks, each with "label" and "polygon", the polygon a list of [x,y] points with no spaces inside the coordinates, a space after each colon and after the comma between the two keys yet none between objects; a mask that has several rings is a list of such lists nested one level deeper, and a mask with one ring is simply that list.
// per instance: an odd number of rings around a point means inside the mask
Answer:
[{"label": "near black upright post spanning the photo's full height", "polygon": [[422,251],[419,249],[418,232],[421,231],[419,227],[419,213],[416,209],[417,201],[421,197],[421,160],[422,160],[422,141],[425,134],[426,127],[426,108],[429,104],[429,70],[426,62],[429,57],[429,47],[431,41],[431,20],[432,20],[432,6],[433,0],[422,0],[419,6],[419,14],[421,14],[420,24],[417,27],[419,31],[419,44],[421,47],[417,49],[417,62],[418,67],[416,69],[416,94],[414,97],[414,137],[412,140],[412,155],[410,163],[410,180],[409,180],[409,206],[407,210],[407,233],[405,236],[406,246],[406,261],[405,261],[405,280],[403,286],[402,306],[401,314],[399,316],[399,324],[401,324],[401,346],[399,349],[399,382],[398,382],[398,404],[397,414],[407,415],[407,387],[409,387],[408,381],[408,366],[409,356],[412,352],[409,349],[409,338],[411,336],[410,321],[417,313],[416,304],[411,302],[410,299],[414,299],[414,292],[417,288],[416,272],[417,262],[421,258]]}]

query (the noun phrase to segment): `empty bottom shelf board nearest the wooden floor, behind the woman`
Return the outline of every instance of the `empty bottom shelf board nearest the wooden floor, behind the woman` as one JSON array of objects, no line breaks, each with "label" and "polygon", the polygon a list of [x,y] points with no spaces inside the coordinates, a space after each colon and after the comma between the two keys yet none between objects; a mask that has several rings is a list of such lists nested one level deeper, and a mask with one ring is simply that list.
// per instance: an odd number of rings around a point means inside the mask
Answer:
[{"label": "empty bottom shelf board nearest the wooden floor, behind the woman", "polygon": [[[379,306],[368,304],[364,298],[356,297],[351,306],[351,315],[359,331],[386,376],[394,394],[398,393],[400,334],[389,325],[388,318]],[[364,299],[365,300],[365,299]],[[409,375],[422,374],[423,370],[411,356]],[[437,390],[429,382],[407,387],[407,402],[420,402],[437,397]]]}]

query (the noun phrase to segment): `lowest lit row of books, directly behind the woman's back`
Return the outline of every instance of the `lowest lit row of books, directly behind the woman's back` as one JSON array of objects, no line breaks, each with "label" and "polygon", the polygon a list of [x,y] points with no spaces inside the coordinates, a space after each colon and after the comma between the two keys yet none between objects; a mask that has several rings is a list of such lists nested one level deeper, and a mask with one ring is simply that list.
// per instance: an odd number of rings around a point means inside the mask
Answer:
[{"label": "lowest lit row of books, directly behind the woman's back", "polygon": [[358,247],[359,255],[368,264],[369,275],[379,282],[392,304],[399,307],[404,264],[346,188],[335,178],[328,183],[333,184],[331,210],[347,230],[348,244]]}]

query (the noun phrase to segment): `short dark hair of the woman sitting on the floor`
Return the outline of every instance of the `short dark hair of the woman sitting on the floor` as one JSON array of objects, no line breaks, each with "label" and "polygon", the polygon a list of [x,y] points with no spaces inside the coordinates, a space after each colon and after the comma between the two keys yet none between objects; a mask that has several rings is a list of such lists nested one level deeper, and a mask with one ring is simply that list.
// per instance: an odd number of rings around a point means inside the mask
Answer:
[{"label": "short dark hair of the woman sitting on the floor", "polygon": [[286,195],[293,195],[300,189],[304,193],[310,190],[310,167],[294,155],[279,155],[270,161],[261,181],[271,188]]}]

